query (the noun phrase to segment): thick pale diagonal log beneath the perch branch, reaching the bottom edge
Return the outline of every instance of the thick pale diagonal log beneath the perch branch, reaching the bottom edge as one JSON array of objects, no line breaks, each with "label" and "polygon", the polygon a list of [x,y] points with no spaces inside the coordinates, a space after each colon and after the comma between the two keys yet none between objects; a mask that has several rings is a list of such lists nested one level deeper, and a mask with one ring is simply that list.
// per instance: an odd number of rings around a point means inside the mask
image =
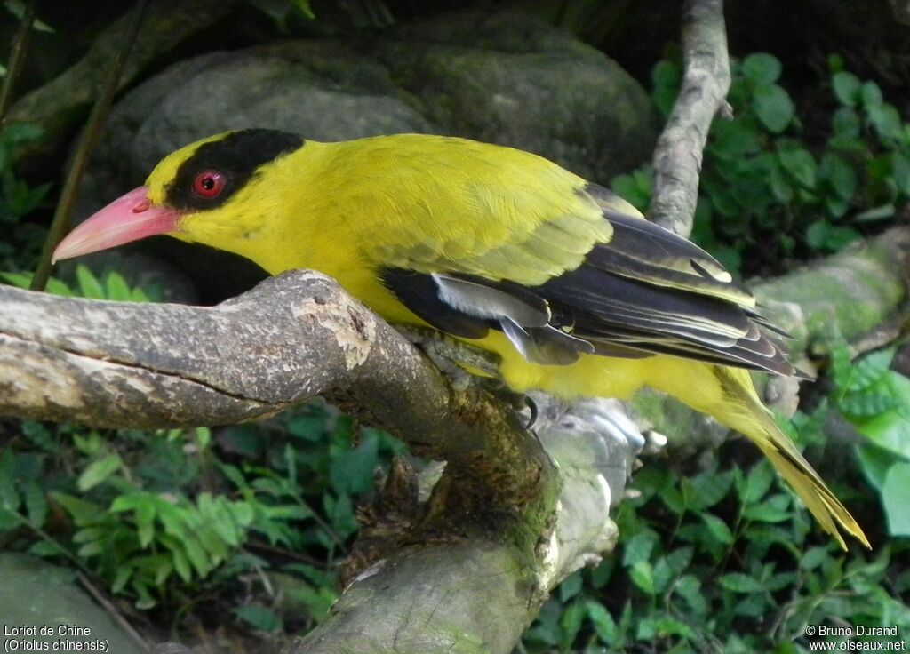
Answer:
[{"label": "thick pale diagonal log beneath the perch branch, reaching the bottom edge", "polygon": [[407,548],[362,573],[330,618],[286,654],[509,654],[549,591],[612,549],[617,530],[608,511],[631,469],[630,440],[641,447],[638,429],[619,403],[596,400],[564,412],[535,399],[562,490],[531,565],[508,540]]}]

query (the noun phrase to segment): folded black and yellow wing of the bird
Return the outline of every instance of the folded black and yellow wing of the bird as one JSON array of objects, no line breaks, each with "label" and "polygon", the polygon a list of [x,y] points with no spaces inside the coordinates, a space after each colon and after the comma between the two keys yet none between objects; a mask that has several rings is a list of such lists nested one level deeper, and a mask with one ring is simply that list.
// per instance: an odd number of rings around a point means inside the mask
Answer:
[{"label": "folded black and yellow wing of the bird", "polygon": [[434,327],[469,338],[498,329],[536,363],[669,354],[794,374],[764,330],[784,332],[716,259],[600,186],[579,193],[581,206],[600,207],[599,222],[552,217],[458,260],[399,251],[401,267],[380,277]]}]

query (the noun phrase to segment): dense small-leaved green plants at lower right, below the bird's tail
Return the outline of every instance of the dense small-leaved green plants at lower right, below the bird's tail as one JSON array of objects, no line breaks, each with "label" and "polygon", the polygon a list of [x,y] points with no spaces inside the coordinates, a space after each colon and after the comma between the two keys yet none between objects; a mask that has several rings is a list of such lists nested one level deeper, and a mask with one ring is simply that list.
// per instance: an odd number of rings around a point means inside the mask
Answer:
[{"label": "dense small-leaved green plants at lower right, below the bird's tail", "polygon": [[633,486],[641,496],[616,516],[620,548],[563,582],[527,651],[806,651],[809,625],[910,629],[910,579],[892,561],[907,543],[847,558],[815,542],[767,461],[715,461],[690,478],[650,466]]}]

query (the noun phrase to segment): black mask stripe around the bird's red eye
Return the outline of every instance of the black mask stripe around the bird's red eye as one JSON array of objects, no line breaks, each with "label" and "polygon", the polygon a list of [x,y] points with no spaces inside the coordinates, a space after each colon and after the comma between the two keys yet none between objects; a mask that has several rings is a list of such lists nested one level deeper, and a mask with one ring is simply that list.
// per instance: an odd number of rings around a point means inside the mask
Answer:
[{"label": "black mask stripe around the bird's red eye", "polygon": [[[223,205],[256,175],[259,166],[303,146],[304,139],[273,129],[244,129],[199,146],[165,187],[165,203],[177,209],[206,209]],[[203,197],[193,191],[197,176],[207,170],[224,176],[224,189],[217,196]],[[207,180],[214,186],[214,180]],[[207,186],[212,187],[212,186]]]}]

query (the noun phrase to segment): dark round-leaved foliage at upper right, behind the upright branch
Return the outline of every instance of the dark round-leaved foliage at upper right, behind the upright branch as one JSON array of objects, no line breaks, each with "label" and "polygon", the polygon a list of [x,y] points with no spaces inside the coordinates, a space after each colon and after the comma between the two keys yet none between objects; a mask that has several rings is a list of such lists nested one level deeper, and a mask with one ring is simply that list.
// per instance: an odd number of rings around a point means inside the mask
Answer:
[{"label": "dark round-leaved foliage at upper right, behind the upright branch", "polygon": [[[776,57],[757,53],[733,62],[728,101],[735,117],[713,122],[693,228],[693,240],[733,270],[743,266],[743,251],[757,244],[764,258],[756,263],[765,266],[839,250],[893,218],[895,207],[910,197],[910,125],[875,82],[845,71],[840,57],[830,57],[828,66],[837,107],[824,142],[817,143],[806,136],[810,130],[780,85]],[[654,69],[652,97],[664,115],[681,75],[674,61]],[[650,177],[645,166],[612,186],[643,210],[651,198]]]}]

